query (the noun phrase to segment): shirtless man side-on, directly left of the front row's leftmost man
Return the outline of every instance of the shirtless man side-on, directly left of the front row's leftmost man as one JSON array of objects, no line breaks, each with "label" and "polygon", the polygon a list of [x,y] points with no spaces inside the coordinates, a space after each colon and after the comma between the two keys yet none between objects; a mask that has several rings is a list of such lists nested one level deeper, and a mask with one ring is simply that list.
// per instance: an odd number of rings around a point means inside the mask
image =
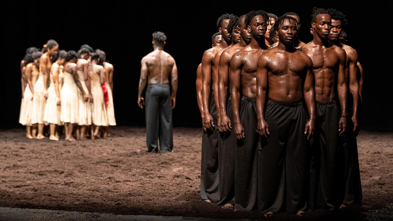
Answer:
[{"label": "shirtless man side-on, directly left of the front row's leftmost man", "polygon": [[[221,114],[221,122],[219,126],[223,133],[223,145],[219,145],[219,192],[220,204],[224,204],[222,208],[233,208],[235,203],[235,148],[236,148],[236,135],[231,133],[233,121],[232,105],[230,96],[228,96],[228,80],[231,57],[234,53],[239,52],[242,48],[247,46],[251,41],[251,32],[244,25],[244,18],[242,15],[237,19],[235,24],[232,20],[228,25],[228,31],[231,31],[233,46],[221,52],[218,68],[219,79],[219,109]],[[235,21],[235,20],[233,20]],[[240,42],[237,43],[234,36],[240,33]],[[237,43],[237,44],[236,44]],[[219,52],[220,53],[220,52]],[[219,54],[217,53],[217,55]],[[216,55],[216,57],[217,57]]]}]

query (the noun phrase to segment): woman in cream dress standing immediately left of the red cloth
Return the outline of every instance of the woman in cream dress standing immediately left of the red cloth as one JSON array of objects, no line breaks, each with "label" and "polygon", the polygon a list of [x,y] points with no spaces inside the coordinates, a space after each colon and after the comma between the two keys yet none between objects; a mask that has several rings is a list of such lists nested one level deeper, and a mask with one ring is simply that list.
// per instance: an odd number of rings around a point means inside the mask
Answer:
[{"label": "woman in cream dress standing immediately left of the red cloth", "polygon": [[[99,129],[108,126],[108,115],[105,107],[104,92],[101,84],[105,83],[104,67],[98,53],[92,53],[89,74],[92,90],[92,139],[100,138]],[[94,132],[93,132],[94,131]]]}]

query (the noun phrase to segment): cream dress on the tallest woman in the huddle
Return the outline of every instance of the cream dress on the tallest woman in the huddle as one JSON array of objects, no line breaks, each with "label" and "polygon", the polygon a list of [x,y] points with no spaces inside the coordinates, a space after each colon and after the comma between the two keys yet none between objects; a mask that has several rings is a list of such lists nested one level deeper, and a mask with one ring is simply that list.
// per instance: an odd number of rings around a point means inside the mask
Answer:
[{"label": "cream dress on the tallest woman in the huddle", "polygon": [[32,124],[44,124],[45,105],[44,74],[40,71],[37,82],[34,85],[33,110],[31,111]]}]

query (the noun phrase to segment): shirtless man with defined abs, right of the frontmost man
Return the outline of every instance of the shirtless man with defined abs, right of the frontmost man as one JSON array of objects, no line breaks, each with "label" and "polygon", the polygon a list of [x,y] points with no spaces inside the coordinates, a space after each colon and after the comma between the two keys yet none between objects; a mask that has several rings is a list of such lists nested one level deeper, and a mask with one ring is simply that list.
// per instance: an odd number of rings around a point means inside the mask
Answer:
[{"label": "shirtless man with defined abs, right of the frontmost man", "polygon": [[[347,85],[345,51],[329,42],[331,16],[325,9],[314,8],[311,27],[314,39],[301,50],[312,59],[315,76],[316,125],[312,140],[309,208],[332,210],[338,203],[338,133],[346,128]],[[337,95],[336,95],[337,91]],[[340,101],[338,113],[336,99]]]}]

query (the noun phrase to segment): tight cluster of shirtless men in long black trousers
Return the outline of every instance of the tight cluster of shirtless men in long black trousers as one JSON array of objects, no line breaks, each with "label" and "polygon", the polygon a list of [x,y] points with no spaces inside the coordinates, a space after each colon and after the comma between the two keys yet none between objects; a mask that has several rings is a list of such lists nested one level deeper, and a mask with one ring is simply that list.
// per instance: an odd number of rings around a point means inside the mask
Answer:
[{"label": "tight cluster of shirtless men in long black trousers", "polygon": [[314,8],[305,44],[293,12],[219,17],[196,80],[203,200],[265,216],[360,203],[362,70],[345,24]]}]

